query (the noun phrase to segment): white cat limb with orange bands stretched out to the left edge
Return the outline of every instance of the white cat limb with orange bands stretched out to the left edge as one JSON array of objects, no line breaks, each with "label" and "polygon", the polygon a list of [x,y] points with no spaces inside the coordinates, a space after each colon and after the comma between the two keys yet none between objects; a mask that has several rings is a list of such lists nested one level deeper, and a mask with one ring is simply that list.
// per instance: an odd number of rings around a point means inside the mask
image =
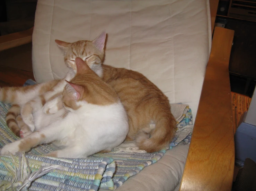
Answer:
[{"label": "white cat limb with orange bands stretched out to the left edge", "polygon": [[24,87],[2,87],[0,88],[0,101],[12,104],[25,104],[29,100],[50,91],[59,80],[52,80]]}]

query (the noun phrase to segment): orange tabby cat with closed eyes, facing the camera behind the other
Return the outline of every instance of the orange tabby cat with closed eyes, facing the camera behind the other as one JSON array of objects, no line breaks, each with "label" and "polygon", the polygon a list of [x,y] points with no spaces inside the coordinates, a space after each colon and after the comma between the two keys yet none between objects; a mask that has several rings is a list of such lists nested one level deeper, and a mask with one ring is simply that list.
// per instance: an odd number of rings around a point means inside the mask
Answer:
[{"label": "orange tabby cat with closed eyes, facing the camera behind the other", "polygon": [[135,140],[139,149],[147,152],[168,149],[176,129],[168,98],[143,74],[102,65],[105,39],[106,32],[103,31],[94,41],[55,42],[64,52],[68,67],[75,71],[74,60],[80,57],[116,91],[128,115],[126,141]]}]

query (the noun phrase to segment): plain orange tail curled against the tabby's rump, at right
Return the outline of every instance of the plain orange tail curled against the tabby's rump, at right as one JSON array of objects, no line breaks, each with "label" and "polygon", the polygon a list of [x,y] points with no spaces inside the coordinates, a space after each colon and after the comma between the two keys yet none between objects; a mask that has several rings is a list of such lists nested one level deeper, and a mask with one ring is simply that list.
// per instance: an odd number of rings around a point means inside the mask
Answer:
[{"label": "plain orange tail curled against the tabby's rump, at right", "polygon": [[[136,135],[136,143],[141,150],[156,152],[168,149],[176,130],[176,120],[171,113],[158,113],[155,117],[155,129],[148,132],[142,129]],[[149,129],[149,128],[147,128]]]}]

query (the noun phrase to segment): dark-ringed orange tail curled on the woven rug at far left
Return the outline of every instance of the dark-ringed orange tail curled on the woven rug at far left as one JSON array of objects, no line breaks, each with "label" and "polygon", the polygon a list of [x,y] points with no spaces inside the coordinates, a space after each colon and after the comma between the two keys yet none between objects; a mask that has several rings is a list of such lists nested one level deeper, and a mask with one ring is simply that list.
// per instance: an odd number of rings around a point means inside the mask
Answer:
[{"label": "dark-ringed orange tail curled on the woven rug at far left", "polygon": [[9,129],[17,136],[20,137],[20,128],[17,124],[16,117],[20,115],[20,106],[13,104],[6,115],[6,123]]}]

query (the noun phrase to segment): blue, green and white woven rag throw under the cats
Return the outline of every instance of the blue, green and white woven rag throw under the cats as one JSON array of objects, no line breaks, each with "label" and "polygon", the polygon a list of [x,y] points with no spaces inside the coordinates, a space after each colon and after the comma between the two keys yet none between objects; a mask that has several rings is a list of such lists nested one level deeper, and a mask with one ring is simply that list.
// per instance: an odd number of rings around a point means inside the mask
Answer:
[{"label": "blue, green and white woven rag throw under the cats", "polygon": [[[9,108],[9,104],[0,102],[0,148],[6,143],[19,139],[6,124],[5,118]],[[26,154],[32,172],[50,164],[60,164],[64,167],[64,170],[56,169],[38,178],[31,184],[29,190],[96,191],[99,187],[114,190],[129,177],[157,162],[166,152],[165,150],[155,153],[110,152],[79,159],[42,156],[54,150],[58,150],[54,144],[44,144]],[[12,164],[9,155],[0,155],[0,159]],[[0,184],[10,182],[11,179],[11,173],[0,162]]]}]

